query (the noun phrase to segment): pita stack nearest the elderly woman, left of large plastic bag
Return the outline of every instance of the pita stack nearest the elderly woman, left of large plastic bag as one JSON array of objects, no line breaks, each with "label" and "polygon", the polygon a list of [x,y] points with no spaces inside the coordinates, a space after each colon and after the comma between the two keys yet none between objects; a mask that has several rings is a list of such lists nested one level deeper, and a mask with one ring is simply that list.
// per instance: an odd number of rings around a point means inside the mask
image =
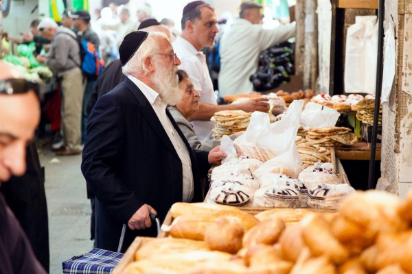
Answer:
[{"label": "pita stack nearest the elderly woman, left of large plastic bag", "polygon": [[247,129],[250,120],[251,112],[244,112],[243,110],[222,110],[216,112],[210,119],[215,124],[212,136],[218,140],[223,135],[242,132]]}]

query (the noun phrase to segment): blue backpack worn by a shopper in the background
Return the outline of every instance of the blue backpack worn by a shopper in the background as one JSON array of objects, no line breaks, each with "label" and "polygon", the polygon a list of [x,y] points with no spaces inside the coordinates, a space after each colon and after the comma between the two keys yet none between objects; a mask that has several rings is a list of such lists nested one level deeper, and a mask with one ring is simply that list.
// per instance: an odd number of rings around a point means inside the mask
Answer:
[{"label": "blue backpack worn by a shopper in the background", "polygon": [[100,54],[92,42],[82,39],[81,36],[78,36],[77,40],[80,47],[80,60],[82,62],[80,69],[82,69],[83,74],[88,77],[98,77],[103,71],[104,60],[100,58]]}]

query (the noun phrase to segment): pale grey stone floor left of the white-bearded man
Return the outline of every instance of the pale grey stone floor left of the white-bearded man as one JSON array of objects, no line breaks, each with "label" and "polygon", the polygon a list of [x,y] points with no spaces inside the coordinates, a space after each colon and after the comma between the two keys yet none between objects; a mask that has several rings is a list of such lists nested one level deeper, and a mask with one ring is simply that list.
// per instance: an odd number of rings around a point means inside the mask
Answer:
[{"label": "pale grey stone floor left of the white-bearded man", "polygon": [[49,211],[50,273],[62,273],[62,262],[93,248],[90,202],[80,171],[81,155],[56,157],[49,146],[39,149],[45,166]]}]

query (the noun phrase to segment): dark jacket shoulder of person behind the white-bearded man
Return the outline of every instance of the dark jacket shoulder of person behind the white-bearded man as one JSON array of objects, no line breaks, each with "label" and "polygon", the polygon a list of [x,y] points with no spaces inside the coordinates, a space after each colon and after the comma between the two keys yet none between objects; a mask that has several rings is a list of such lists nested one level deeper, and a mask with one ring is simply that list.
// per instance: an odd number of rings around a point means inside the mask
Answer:
[{"label": "dark jacket shoulder of person behind the white-bearded man", "polygon": [[122,83],[125,77],[122,73],[122,63],[120,59],[114,60],[104,67],[102,74],[99,75],[95,82],[89,102],[87,102],[87,114],[90,114],[93,106],[100,97]]}]

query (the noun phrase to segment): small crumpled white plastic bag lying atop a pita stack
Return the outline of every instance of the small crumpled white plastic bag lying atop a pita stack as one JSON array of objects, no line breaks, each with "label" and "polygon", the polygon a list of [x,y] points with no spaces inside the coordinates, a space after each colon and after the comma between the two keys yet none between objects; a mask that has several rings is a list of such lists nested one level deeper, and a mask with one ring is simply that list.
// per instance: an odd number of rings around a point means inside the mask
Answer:
[{"label": "small crumpled white plastic bag lying atop a pita stack", "polygon": [[341,114],[333,108],[309,102],[301,115],[301,124],[306,127],[334,127]]}]

